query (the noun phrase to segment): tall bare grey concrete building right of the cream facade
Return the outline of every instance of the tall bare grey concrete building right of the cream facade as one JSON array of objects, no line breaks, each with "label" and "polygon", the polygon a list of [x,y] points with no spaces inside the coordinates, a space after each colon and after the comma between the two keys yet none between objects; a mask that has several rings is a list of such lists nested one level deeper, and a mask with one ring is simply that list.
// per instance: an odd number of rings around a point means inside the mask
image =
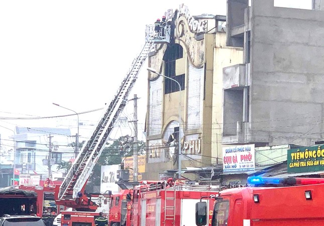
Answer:
[{"label": "tall bare grey concrete building right of the cream facade", "polygon": [[323,140],[324,12],[312,7],[228,0],[227,45],[244,48],[244,63],[223,69],[223,144]]}]

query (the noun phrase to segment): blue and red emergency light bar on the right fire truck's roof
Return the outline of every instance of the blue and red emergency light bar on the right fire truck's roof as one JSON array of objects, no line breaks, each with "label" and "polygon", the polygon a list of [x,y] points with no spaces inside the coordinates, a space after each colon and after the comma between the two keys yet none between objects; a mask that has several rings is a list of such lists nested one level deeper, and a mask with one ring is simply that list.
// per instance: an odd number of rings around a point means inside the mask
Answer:
[{"label": "blue and red emergency light bar on the right fire truck's roof", "polygon": [[324,178],[300,178],[300,177],[262,177],[249,176],[248,184],[286,184],[286,185],[308,185],[324,183]]}]

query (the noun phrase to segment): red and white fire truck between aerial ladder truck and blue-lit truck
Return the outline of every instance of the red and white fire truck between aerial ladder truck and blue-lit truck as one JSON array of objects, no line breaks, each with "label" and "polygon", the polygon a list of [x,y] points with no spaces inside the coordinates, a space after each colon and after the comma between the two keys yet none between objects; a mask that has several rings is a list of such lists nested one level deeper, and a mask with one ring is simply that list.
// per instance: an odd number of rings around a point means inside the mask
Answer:
[{"label": "red and white fire truck between aerial ladder truck and blue-lit truck", "polygon": [[[201,196],[217,195],[218,190],[219,186],[187,184],[184,181],[175,181],[172,186],[166,181],[141,181],[134,189],[113,197],[115,202],[111,205],[110,226],[192,225],[195,203]],[[122,200],[121,204],[116,204],[116,198]],[[214,200],[205,200],[205,203],[212,209]],[[210,222],[211,216],[208,215]]]}]

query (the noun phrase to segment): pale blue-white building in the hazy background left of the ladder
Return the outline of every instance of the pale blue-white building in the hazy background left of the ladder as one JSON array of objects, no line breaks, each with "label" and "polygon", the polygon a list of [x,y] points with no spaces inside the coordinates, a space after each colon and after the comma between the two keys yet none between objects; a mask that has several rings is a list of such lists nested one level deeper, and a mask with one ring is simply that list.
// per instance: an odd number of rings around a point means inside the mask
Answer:
[{"label": "pale blue-white building in the hazy background left of the ladder", "polygon": [[75,138],[71,137],[70,129],[16,127],[14,138],[14,164],[20,174],[39,174],[44,180],[48,177],[50,164],[52,179],[55,175],[62,177],[58,164],[74,158],[70,144]]}]

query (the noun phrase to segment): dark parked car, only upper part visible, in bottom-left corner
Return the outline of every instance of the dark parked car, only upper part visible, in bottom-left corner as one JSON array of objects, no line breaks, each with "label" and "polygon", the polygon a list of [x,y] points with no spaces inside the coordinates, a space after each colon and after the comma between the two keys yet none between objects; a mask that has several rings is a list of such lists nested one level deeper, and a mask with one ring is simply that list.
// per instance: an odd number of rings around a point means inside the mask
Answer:
[{"label": "dark parked car, only upper part visible, in bottom-left corner", "polygon": [[0,226],[45,226],[41,217],[36,215],[4,215]]}]

